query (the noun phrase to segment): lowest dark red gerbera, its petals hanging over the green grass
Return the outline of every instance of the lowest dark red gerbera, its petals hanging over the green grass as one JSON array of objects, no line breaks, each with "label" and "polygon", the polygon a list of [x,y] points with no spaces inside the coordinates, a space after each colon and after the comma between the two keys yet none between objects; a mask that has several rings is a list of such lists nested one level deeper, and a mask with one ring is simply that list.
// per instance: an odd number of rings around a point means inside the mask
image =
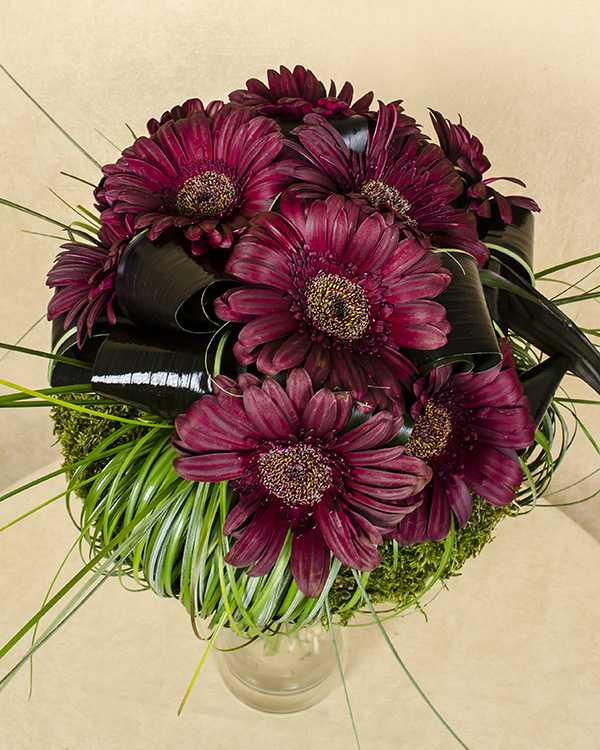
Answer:
[{"label": "lowest dark red gerbera, its petals hanging over the green grass", "polygon": [[291,531],[292,574],[306,596],[322,591],[330,551],[374,570],[381,530],[412,511],[406,498],[431,476],[402,446],[385,447],[402,418],[379,412],[345,432],[350,397],[314,393],[305,370],[293,370],[285,390],[272,378],[218,377],[215,393],[177,418],[174,463],[187,479],[231,482],[237,502],[223,533],[237,541],[226,562],[265,575]]}]

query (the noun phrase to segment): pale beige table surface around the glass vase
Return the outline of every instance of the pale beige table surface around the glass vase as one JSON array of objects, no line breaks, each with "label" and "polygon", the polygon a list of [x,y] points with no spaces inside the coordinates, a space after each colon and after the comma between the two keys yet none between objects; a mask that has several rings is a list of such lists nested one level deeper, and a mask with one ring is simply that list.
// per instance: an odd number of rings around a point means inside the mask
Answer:
[{"label": "pale beige table surface around the glass vase", "polygon": [[[0,527],[63,489],[58,477],[5,501]],[[2,644],[41,605],[75,539],[62,499],[2,533]],[[60,580],[77,569],[76,553]],[[427,607],[428,621],[417,613],[386,629],[465,745],[597,748],[600,544],[559,510],[538,507],[503,521],[447,588]],[[346,629],[344,637],[363,750],[459,747],[374,626]],[[5,657],[3,674],[26,643]],[[211,658],[178,717],[203,648],[177,602],[109,579],[36,655],[31,700],[27,668],[0,696],[0,748],[355,746],[341,688],[300,714],[262,714],[227,692]]]}]

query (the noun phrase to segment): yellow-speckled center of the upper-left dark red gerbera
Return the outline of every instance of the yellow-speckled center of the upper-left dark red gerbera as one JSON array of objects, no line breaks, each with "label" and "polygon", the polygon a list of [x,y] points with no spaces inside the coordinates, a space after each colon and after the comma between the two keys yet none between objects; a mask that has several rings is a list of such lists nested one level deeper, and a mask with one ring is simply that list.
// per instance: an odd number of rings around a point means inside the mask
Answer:
[{"label": "yellow-speckled center of the upper-left dark red gerbera", "polygon": [[200,172],[183,183],[175,198],[181,216],[210,219],[226,214],[236,201],[233,181],[221,172]]}]

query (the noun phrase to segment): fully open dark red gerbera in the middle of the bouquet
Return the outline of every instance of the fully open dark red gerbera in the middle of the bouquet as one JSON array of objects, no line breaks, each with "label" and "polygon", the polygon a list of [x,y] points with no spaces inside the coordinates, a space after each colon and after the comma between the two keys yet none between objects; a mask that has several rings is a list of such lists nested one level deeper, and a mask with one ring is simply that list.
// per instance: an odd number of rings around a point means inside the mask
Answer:
[{"label": "fully open dark red gerbera in the middle of the bouquet", "polygon": [[340,195],[308,205],[282,200],[236,245],[226,270],[248,284],[215,303],[222,320],[245,323],[235,353],[268,375],[304,366],[364,399],[371,384],[400,396],[414,366],[399,347],[435,349],[450,326],[432,301],[450,280],[439,258],[381,214]]}]

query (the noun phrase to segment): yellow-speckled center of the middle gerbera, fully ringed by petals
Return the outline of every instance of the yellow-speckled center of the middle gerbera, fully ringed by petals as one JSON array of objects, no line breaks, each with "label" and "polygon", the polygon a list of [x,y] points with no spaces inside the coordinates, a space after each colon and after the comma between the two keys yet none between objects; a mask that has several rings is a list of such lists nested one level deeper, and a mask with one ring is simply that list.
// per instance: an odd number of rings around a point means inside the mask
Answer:
[{"label": "yellow-speckled center of the middle gerbera, fully ringed by petals", "polygon": [[360,338],[371,320],[365,290],[335,273],[320,271],[308,280],[306,307],[317,328],[347,341]]}]

